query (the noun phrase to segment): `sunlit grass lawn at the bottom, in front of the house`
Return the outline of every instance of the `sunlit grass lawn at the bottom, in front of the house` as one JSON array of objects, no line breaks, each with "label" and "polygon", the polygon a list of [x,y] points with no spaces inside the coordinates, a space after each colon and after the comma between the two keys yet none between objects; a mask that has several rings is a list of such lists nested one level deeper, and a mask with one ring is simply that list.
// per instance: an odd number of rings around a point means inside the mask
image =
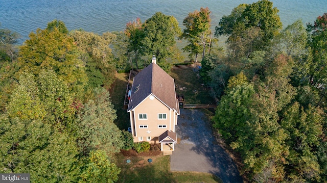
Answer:
[{"label": "sunlit grass lawn at the bottom, in front of the house", "polygon": [[[147,161],[149,158],[152,163]],[[126,163],[128,159],[130,163]],[[171,172],[169,155],[125,157],[119,154],[116,160],[121,168],[118,182],[222,182],[210,173]]]}]

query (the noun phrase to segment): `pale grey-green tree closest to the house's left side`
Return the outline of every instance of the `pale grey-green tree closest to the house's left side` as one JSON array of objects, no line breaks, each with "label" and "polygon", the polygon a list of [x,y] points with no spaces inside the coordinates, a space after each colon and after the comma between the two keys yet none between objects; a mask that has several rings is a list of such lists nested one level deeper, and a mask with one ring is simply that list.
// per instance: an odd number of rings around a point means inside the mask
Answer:
[{"label": "pale grey-green tree closest to the house's left side", "polygon": [[96,98],[89,100],[79,110],[78,144],[84,152],[102,149],[112,158],[123,147],[121,131],[113,123],[116,119],[109,92],[103,88],[94,90]]}]

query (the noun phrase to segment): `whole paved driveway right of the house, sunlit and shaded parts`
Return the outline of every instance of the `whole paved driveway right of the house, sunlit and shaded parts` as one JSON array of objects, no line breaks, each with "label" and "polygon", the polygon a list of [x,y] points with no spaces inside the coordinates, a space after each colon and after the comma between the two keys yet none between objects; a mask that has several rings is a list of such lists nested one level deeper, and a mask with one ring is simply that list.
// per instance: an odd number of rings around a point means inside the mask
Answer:
[{"label": "whole paved driveway right of the house, sunlit and shaded parts", "polygon": [[171,171],[208,172],[223,182],[243,182],[235,163],[217,144],[203,112],[180,109],[180,114],[176,132],[181,141],[170,156]]}]

